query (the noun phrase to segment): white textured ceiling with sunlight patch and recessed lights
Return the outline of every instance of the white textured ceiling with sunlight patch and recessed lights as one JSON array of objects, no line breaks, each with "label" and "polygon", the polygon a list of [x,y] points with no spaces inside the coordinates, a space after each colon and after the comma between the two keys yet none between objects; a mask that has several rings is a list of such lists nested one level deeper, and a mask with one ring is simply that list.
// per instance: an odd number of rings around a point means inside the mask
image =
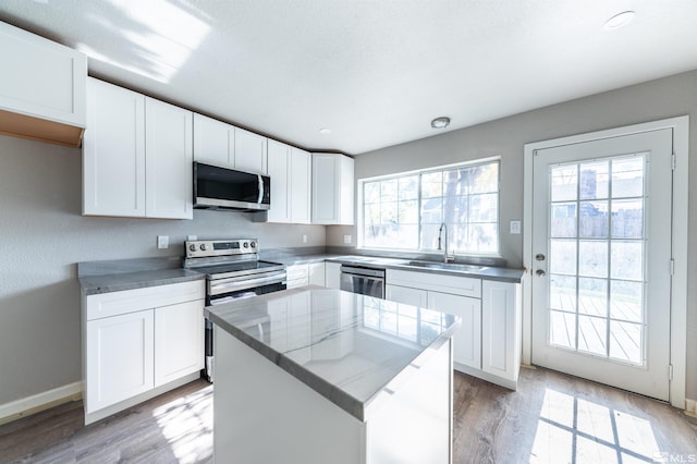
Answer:
[{"label": "white textured ceiling with sunlight patch and recessed lights", "polygon": [[93,75],[351,155],[697,69],[696,0],[2,0],[0,20]]}]

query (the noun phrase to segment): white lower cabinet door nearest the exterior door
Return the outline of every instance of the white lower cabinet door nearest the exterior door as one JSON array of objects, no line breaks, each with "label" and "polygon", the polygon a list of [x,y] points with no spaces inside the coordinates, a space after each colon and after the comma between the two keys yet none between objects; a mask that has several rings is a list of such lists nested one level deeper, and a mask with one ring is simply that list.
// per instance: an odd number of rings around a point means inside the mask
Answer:
[{"label": "white lower cabinet door nearest the exterior door", "polygon": [[481,369],[517,380],[521,368],[521,284],[481,285]]}]

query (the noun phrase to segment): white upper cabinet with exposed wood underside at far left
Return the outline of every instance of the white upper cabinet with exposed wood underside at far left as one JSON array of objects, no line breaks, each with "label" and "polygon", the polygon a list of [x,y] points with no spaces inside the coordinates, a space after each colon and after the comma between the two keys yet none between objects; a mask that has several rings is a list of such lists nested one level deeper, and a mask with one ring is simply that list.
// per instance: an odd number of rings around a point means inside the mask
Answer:
[{"label": "white upper cabinet with exposed wood underside at far left", "polygon": [[87,57],[0,23],[0,133],[78,146]]}]

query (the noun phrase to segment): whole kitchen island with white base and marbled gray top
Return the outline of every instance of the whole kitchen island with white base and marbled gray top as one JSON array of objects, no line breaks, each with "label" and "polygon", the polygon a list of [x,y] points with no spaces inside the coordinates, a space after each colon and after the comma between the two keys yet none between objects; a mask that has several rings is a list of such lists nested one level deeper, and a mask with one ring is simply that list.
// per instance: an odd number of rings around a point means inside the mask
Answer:
[{"label": "whole kitchen island with white base and marbled gray top", "polygon": [[319,286],[206,315],[216,461],[450,462],[457,317]]}]

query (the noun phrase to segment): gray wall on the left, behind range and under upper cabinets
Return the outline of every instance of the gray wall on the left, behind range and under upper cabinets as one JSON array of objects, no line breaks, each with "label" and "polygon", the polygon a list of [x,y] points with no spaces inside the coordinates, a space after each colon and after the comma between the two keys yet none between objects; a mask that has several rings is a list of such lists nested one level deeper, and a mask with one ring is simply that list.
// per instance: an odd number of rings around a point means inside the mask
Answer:
[{"label": "gray wall on the left, behind range and under upper cabinets", "polygon": [[[323,225],[198,210],[193,221],[88,218],[81,198],[80,149],[0,136],[0,404],[82,379],[78,261],[182,256],[188,234],[325,245]],[[157,249],[157,235],[170,248]]]}]

